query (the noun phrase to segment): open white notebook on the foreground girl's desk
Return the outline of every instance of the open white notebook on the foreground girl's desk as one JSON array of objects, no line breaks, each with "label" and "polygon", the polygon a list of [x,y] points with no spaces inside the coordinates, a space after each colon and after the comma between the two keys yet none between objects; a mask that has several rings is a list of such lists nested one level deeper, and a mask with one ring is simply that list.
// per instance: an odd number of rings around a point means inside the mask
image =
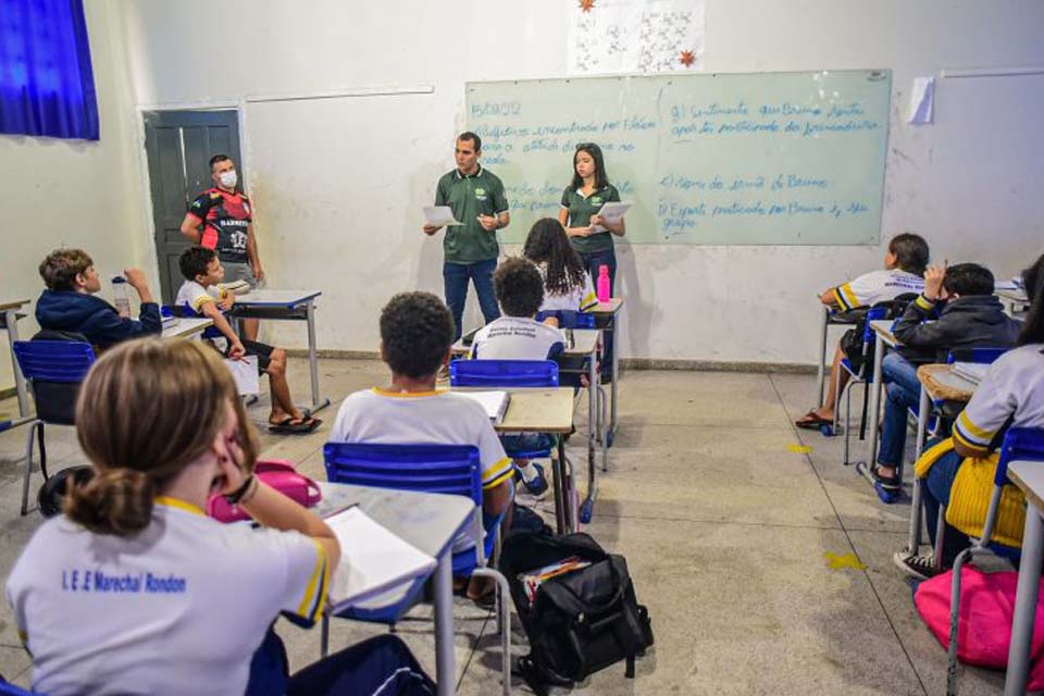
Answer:
[{"label": "open white notebook on the foreground girl's desk", "polygon": [[340,563],[330,582],[334,608],[383,607],[397,601],[410,582],[435,569],[435,559],[374,522],[359,508],[326,518],[340,544]]}]

